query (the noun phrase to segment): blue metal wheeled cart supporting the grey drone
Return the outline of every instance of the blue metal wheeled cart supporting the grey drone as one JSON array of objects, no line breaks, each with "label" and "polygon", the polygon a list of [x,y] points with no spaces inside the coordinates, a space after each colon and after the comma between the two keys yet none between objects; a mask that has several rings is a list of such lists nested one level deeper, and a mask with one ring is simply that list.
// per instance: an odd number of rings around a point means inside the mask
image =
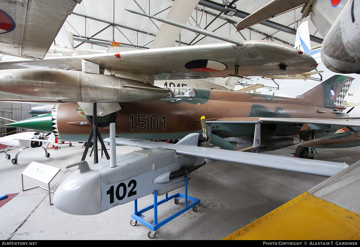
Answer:
[{"label": "blue metal wheeled cart supporting the grey drone", "polygon": [[[168,197],[167,193],[166,193],[165,199],[162,199],[159,202],[157,201],[157,190],[154,190],[153,194],[154,194],[154,204],[152,204],[148,207],[145,207],[139,211],[138,211],[138,200],[136,199],[134,201],[135,212],[134,212],[134,214],[131,214],[132,220],[130,221],[130,225],[132,225],[132,226],[135,226],[139,221],[139,223],[141,223],[144,226],[146,226],[147,228],[149,228],[150,229],[150,232],[148,233],[149,238],[154,238],[156,235],[157,229],[159,229],[161,226],[165,225],[169,221],[175,219],[177,216],[181,215],[182,213],[190,210],[190,208],[193,208],[193,211],[195,212],[198,208],[197,205],[200,203],[200,199],[188,196],[188,178],[187,177],[185,177],[185,194],[176,193],[176,194]],[[162,203],[167,202],[171,199],[174,199],[175,204],[177,204],[177,203],[179,203],[179,200],[181,198],[185,198],[185,207],[182,208],[181,210],[177,211],[175,214],[172,214],[171,216],[167,217],[166,219],[158,222],[158,218],[157,218],[158,205],[161,205]],[[191,200],[191,202],[188,203],[188,199]],[[148,210],[151,210],[152,208],[154,208],[154,223],[149,223],[148,221],[144,220],[145,216],[143,215],[143,213]]]}]

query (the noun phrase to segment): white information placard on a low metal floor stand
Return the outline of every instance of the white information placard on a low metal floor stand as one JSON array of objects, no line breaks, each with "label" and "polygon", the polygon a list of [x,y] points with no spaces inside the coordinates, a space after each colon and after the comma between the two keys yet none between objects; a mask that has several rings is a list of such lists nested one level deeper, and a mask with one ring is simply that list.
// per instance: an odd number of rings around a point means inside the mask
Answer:
[{"label": "white information placard on a low metal floor stand", "polygon": [[[41,189],[48,190],[49,191],[49,203],[50,203],[50,205],[53,205],[53,203],[51,203],[51,194],[50,193],[51,192],[55,193],[55,192],[50,190],[50,182],[55,178],[56,175],[58,175],[59,171],[61,171],[61,169],[56,168],[56,167],[44,165],[42,163],[35,162],[35,161],[30,162],[30,164],[27,167],[25,167],[25,169],[21,172],[22,190],[26,191],[26,190],[35,189],[38,187]],[[32,188],[24,189],[23,175],[28,176],[33,179],[36,179],[42,183],[48,184],[48,188],[45,188],[42,186],[35,186]]]}]

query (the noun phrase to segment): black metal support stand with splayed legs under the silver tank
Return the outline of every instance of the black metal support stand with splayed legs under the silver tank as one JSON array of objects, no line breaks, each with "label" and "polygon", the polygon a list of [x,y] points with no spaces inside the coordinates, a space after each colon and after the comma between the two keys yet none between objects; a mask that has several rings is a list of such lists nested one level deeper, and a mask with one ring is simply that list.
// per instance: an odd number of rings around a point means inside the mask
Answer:
[{"label": "black metal support stand with splayed legs under the silver tank", "polygon": [[109,156],[108,151],[107,151],[107,149],[105,147],[103,138],[102,138],[102,136],[100,134],[100,131],[98,129],[98,122],[97,122],[96,115],[97,115],[96,103],[93,103],[93,128],[91,129],[89,139],[87,139],[85,150],[84,150],[84,153],[82,154],[82,158],[81,158],[81,161],[85,160],[87,151],[89,150],[89,147],[90,147],[91,140],[94,137],[93,149],[96,150],[96,152],[94,152],[94,164],[99,162],[99,159],[98,159],[98,139],[99,139],[99,142],[101,144],[102,149],[104,149],[106,159],[107,160],[110,159],[110,156]]}]

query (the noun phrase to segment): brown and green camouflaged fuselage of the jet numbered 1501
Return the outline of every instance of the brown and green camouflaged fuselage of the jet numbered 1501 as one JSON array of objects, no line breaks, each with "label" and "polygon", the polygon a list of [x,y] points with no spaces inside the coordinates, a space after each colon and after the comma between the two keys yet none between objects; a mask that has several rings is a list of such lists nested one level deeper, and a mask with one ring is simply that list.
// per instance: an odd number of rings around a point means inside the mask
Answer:
[{"label": "brown and green camouflaged fuselage of the jet numbered 1501", "polygon": [[[184,90],[186,89],[175,89]],[[283,98],[260,94],[195,89],[193,97],[171,96],[168,98],[121,103],[117,112],[116,135],[124,138],[141,139],[180,139],[189,133],[201,133],[201,116],[207,120],[230,117],[296,117],[296,118],[335,118],[346,117],[341,111],[316,107],[310,100]],[[183,93],[184,93],[183,92]],[[181,94],[181,92],[180,92]],[[62,140],[86,141],[92,123],[78,112],[75,102],[62,103],[53,111],[57,128],[53,128]],[[81,116],[82,115],[82,116]],[[53,121],[54,123],[54,121]],[[86,123],[86,125],[84,125]],[[99,128],[104,137],[107,127]],[[262,124],[262,135],[288,136],[299,133],[301,125]],[[334,131],[338,126],[321,126],[321,131]],[[254,125],[249,123],[215,123],[212,133],[222,138],[233,136],[252,136]],[[57,133],[56,133],[57,132]]]}]

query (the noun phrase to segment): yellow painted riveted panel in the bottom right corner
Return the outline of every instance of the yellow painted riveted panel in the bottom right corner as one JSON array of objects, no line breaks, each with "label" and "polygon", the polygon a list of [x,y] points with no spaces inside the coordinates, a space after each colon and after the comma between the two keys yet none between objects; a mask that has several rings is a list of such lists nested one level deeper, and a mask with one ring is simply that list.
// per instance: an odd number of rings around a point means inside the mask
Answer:
[{"label": "yellow painted riveted panel in the bottom right corner", "polygon": [[308,192],[223,240],[359,240],[360,215]]}]

